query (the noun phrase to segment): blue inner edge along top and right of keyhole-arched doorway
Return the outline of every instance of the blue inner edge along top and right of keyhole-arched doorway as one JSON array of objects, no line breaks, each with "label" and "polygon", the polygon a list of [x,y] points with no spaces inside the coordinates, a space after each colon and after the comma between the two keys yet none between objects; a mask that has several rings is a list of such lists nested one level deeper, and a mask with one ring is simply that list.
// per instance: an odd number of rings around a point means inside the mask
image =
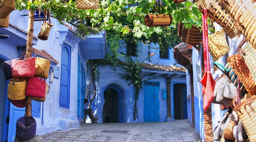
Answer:
[{"label": "blue inner edge along top and right of keyhole-arched doorway", "polygon": [[[110,88],[113,88],[113,89],[115,89],[117,92],[118,92],[118,94],[119,94],[119,104],[118,104],[118,111],[120,112],[119,113],[119,116],[118,116],[118,121],[119,121],[119,123],[123,123],[123,106],[122,106],[122,99],[123,99],[123,93],[122,93],[122,90],[117,86],[117,85],[114,85],[114,84],[110,84],[110,85],[108,85],[106,88],[105,88],[105,90],[107,90],[107,89],[110,89]],[[105,91],[104,90],[104,91]]]}]

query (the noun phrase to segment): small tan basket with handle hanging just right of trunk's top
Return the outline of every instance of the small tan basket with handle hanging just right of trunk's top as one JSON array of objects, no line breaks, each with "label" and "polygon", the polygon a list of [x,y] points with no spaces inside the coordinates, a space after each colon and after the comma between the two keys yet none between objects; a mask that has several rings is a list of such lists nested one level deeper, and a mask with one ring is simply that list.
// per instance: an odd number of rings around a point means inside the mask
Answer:
[{"label": "small tan basket with handle hanging just right of trunk's top", "polygon": [[[50,14],[49,14],[48,10],[44,12],[44,15],[45,16],[44,16],[43,24],[41,26],[41,30],[40,30],[40,32],[39,32],[37,37],[40,40],[46,41],[46,40],[48,40],[48,37],[50,35],[50,31],[52,29],[53,24],[51,23]],[[46,22],[46,15],[49,18],[49,23]]]}]

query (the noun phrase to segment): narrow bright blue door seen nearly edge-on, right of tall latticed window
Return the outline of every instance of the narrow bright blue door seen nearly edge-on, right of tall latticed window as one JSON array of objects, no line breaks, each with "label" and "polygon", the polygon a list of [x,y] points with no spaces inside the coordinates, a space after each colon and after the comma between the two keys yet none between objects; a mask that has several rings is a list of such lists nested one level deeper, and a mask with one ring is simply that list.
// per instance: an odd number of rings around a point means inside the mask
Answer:
[{"label": "narrow bright blue door seen nearly edge-on, right of tall latticed window", "polygon": [[80,96],[81,96],[81,63],[80,57],[78,55],[77,59],[77,117],[80,118],[81,116],[81,104],[80,104]]}]

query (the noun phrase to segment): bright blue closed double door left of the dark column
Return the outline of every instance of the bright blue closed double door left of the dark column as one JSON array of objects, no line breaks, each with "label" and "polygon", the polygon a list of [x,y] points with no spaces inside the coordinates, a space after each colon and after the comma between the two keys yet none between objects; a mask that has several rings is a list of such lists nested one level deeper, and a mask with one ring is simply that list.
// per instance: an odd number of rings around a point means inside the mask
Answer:
[{"label": "bright blue closed double door left of the dark column", "polygon": [[144,122],[159,122],[160,82],[144,82]]}]

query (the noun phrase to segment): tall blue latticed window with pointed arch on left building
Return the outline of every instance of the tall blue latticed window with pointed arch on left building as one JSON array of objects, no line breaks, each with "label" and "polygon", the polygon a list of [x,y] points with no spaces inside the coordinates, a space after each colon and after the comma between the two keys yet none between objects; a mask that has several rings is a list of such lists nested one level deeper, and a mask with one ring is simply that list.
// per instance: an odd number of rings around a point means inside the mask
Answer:
[{"label": "tall blue latticed window with pointed arch on left building", "polygon": [[60,71],[60,107],[69,109],[71,47],[63,44]]}]

